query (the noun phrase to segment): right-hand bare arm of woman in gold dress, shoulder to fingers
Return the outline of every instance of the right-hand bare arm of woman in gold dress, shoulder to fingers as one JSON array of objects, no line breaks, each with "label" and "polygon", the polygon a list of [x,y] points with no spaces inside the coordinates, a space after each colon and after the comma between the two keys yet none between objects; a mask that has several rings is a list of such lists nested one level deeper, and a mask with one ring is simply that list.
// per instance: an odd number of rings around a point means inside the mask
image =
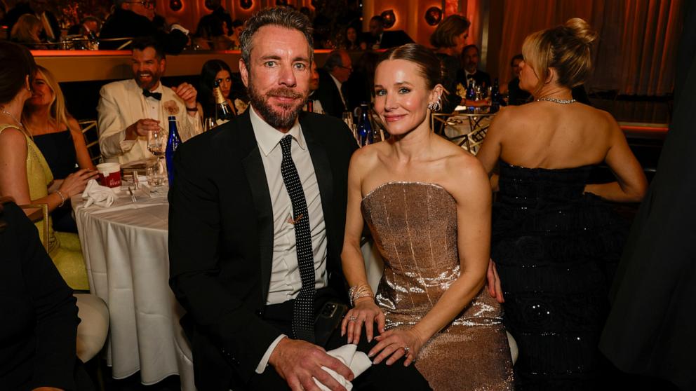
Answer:
[{"label": "right-hand bare arm of woman in gold dress, shoulder to fingers", "polygon": [[[462,168],[464,167],[464,168]],[[469,305],[486,282],[486,269],[490,252],[490,186],[481,164],[472,156],[453,159],[448,168],[448,191],[457,202],[457,247],[460,256],[460,276],[441,296],[435,306],[411,329],[390,330],[377,337],[380,341],[370,355],[382,350],[375,357],[375,364],[391,356],[392,364],[403,356],[408,348],[404,364],[413,362],[421,346],[434,334],[446,327]],[[396,346],[398,349],[388,348]]]}]

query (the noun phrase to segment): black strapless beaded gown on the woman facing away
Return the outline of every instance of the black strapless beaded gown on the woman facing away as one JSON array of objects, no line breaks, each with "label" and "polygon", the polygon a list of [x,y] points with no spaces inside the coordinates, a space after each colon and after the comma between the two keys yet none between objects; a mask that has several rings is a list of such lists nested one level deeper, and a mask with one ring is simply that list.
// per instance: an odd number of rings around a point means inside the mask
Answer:
[{"label": "black strapless beaded gown on the woman facing away", "polygon": [[600,389],[597,344],[627,225],[582,193],[591,169],[500,162],[491,256],[519,348],[517,390]]}]

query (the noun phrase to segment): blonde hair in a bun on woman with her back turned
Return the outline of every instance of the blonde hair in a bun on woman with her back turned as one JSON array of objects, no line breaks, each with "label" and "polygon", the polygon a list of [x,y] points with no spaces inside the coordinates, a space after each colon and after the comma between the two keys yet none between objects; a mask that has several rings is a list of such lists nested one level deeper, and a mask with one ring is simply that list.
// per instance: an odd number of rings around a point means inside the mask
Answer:
[{"label": "blonde hair in a bun on woman with her back turned", "polygon": [[592,71],[592,43],[597,37],[580,18],[528,35],[522,44],[522,55],[539,78],[532,95],[544,87],[549,68],[556,69],[557,82],[564,87],[573,88],[587,81]]}]

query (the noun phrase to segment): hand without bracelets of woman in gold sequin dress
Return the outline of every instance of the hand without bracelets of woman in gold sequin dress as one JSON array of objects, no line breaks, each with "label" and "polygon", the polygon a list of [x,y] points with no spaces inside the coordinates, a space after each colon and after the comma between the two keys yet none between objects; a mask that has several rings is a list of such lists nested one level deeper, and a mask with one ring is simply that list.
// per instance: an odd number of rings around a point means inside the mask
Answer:
[{"label": "hand without bracelets of woman in gold sequin dress", "polygon": [[373,364],[379,364],[382,360],[387,359],[387,365],[394,364],[396,360],[406,356],[403,366],[409,366],[415,361],[420,348],[423,347],[423,340],[418,332],[411,329],[389,330],[375,337],[377,345],[368,353],[368,356],[375,357]]}]

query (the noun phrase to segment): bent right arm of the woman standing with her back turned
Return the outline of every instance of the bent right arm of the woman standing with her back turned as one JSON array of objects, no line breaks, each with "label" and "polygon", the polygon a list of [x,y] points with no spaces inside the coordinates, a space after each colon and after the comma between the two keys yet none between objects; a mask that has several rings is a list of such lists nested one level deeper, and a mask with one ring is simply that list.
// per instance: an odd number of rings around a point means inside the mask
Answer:
[{"label": "bent right arm of the woman standing with her back turned", "polygon": [[648,188],[648,181],[641,163],[634,156],[615,119],[608,116],[610,126],[609,150],[604,158],[607,165],[614,173],[617,181],[608,184],[589,184],[585,186],[586,193],[594,193],[605,200],[638,203],[643,200]]}]

